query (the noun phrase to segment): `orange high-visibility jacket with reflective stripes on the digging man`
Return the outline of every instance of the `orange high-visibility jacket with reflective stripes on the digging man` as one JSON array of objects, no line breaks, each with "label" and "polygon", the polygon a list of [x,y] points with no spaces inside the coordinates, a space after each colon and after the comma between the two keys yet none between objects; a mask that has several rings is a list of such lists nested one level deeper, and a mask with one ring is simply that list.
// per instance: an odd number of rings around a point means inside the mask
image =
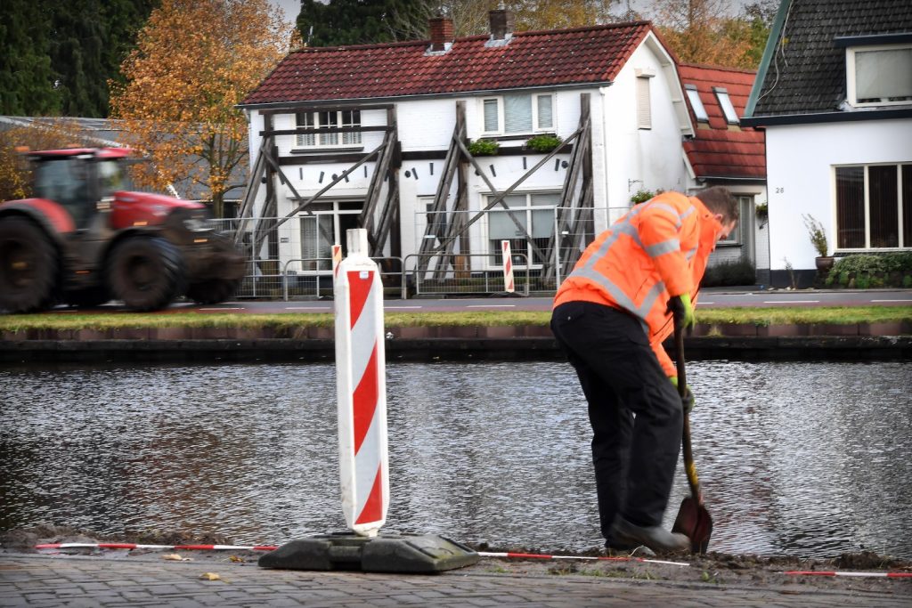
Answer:
[{"label": "orange high-visibility jacket with reflective stripes on the digging man", "polygon": [[662,342],[674,331],[668,299],[697,290],[722,226],[696,197],[663,192],[636,205],[598,235],[554,295],[554,306],[594,302],[636,316],[668,376]]}]

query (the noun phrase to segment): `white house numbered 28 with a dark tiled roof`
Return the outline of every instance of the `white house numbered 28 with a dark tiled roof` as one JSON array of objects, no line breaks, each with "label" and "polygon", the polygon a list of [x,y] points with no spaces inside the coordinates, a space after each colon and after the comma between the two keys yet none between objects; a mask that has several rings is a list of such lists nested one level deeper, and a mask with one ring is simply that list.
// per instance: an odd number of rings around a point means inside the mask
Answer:
[{"label": "white house numbered 28 with a dark tiled roof", "polygon": [[813,283],[809,218],[831,256],[912,249],[907,0],[782,0],[741,124],[766,131],[772,284]]}]

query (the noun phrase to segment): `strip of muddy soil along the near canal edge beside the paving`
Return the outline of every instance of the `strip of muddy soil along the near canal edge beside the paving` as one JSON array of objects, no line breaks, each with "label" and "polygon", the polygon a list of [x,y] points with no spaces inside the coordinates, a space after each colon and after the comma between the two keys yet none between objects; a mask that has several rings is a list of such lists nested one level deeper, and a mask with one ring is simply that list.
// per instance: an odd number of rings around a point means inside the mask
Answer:
[{"label": "strip of muddy soil along the near canal edge beside the paving", "polygon": [[[180,560],[205,564],[212,570],[219,563],[256,565],[263,551],[155,551],[155,550],[98,550],[67,549],[36,551],[36,544],[58,542],[129,542],[153,545],[223,544],[233,541],[220,535],[193,536],[175,531],[142,531],[117,536],[99,535],[73,528],[40,525],[32,528],[0,532],[0,555],[4,553],[57,553],[96,555],[108,559]],[[535,553],[544,555],[576,555],[608,557],[605,551],[564,551],[528,547],[473,546],[483,552]],[[483,558],[459,572],[475,574],[517,574],[532,576],[591,576],[623,578],[639,581],[668,581],[684,584],[726,584],[738,587],[782,588],[806,585],[815,589],[837,592],[877,592],[895,594],[897,600],[912,603],[912,578],[846,577],[785,574],[805,572],[912,572],[912,562],[877,555],[870,551],[844,553],[833,559],[803,559],[798,557],[761,557],[730,555],[710,551],[705,555],[662,555],[638,559],[637,556],[613,553],[615,560],[543,560]],[[680,562],[671,565],[649,560]]]}]

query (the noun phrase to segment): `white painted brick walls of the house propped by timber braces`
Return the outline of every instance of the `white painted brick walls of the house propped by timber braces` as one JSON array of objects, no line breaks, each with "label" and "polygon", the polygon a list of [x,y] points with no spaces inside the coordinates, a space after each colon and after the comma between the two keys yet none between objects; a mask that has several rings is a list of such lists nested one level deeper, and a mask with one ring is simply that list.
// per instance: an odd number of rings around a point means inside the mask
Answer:
[{"label": "white painted brick walls of the house propped by timber braces", "polygon": [[[652,128],[637,128],[637,69],[654,73],[650,78]],[[544,92],[544,91],[543,91]],[[692,129],[682,113],[683,98],[677,74],[670,57],[658,45],[655,36],[649,36],[632,54],[627,66],[623,67],[614,84],[610,87],[571,88],[555,91],[555,130],[559,137],[566,138],[579,124],[580,94],[589,93],[593,136],[593,179],[596,210],[611,208],[610,216],[605,211],[596,211],[596,230],[606,228],[608,220],[617,218],[630,207],[630,196],[638,190],[655,191],[687,188],[687,172],[681,149],[682,133]],[[469,139],[478,139],[482,133],[482,96],[440,97],[402,99],[396,103],[399,140],[402,150],[423,151],[447,149],[450,146],[456,119],[456,102],[462,100],[466,106],[466,127]],[[683,117],[683,118],[682,118]],[[383,110],[362,112],[362,124],[385,124]],[[294,114],[275,115],[275,129],[294,129]],[[251,112],[250,147],[255,154],[259,150],[259,131],[264,127],[263,117],[256,110]],[[364,152],[375,148],[382,134],[363,135]],[[522,146],[523,139],[504,140],[502,148]],[[282,157],[294,156],[294,136],[277,138],[276,145]],[[526,167],[532,168],[542,157],[529,155]],[[504,191],[523,175],[523,156],[480,157],[482,168],[492,181],[494,189]],[[560,162],[569,160],[562,154],[550,160],[541,169],[523,182],[515,192],[560,191],[563,188],[566,168]],[[251,163],[253,165],[253,162]],[[312,196],[352,163],[324,163],[310,165],[285,165],[286,177],[292,181],[295,190],[304,197]],[[363,198],[373,175],[375,162],[359,167],[342,182],[327,191],[323,198]],[[433,169],[431,169],[433,164]],[[491,168],[493,167],[492,174]],[[367,175],[365,174],[367,168]],[[432,197],[440,181],[442,160],[409,160],[399,170],[400,227],[403,255],[415,252],[420,239],[421,226],[416,227],[416,214],[425,211],[425,202]],[[433,170],[433,175],[431,175]],[[322,176],[321,176],[322,173]],[[408,173],[408,175],[406,175]],[[484,196],[491,188],[475,175],[469,173],[469,209],[482,208]],[[416,177],[417,176],[417,177]],[[279,193],[279,212],[284,215],[293,209],[289,197],[290,189],[275,184]],[[451,195],[455,195],[455,180]],[[381,192],[384,197],[386,192]],[[257,200],[262,209],[265,188],[261,185]],[[478,222],[481,224],[481,222]],[[481,247],[481,226],[475,227],[472,242]],[[292,248],[297,243],[289,243]]]}]

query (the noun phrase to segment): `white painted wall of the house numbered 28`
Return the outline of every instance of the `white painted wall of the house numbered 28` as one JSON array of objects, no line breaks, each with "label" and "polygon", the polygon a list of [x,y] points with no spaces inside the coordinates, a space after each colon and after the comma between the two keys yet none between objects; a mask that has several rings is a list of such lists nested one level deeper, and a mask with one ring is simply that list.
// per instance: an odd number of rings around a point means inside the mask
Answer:
[{"label": "white painted wall of the house numbered 28", "polygon": [[834,252],[834,166],[912,161],[912,119],[859,120],[766,129],[770,199],[770,264],[814,269],[814,247],[802,214],[824,225]]}]

